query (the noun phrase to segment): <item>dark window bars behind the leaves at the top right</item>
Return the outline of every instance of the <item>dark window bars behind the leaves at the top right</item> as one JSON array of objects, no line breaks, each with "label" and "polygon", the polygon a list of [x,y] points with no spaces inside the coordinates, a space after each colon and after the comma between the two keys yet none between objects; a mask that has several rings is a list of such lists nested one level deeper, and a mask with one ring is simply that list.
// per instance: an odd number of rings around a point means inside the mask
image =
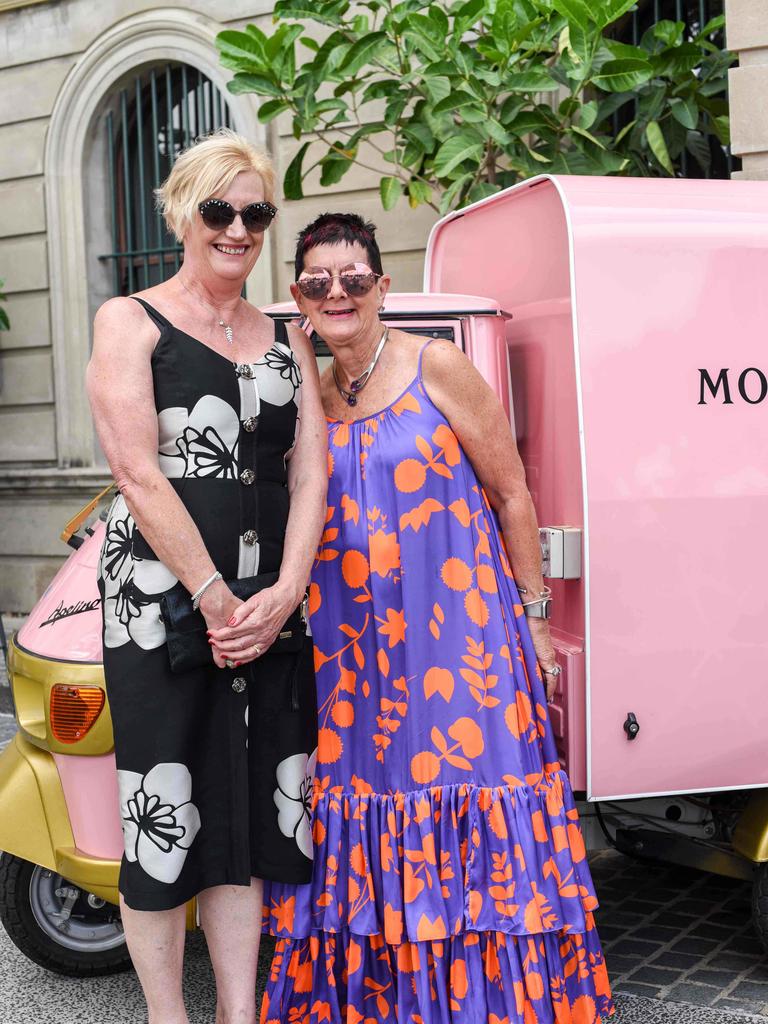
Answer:
[{"label": "dark window bars behind the leaves at the top right", "polygon": [[[637,46],[640,39],[657,22],[683,22],[685,36],[692,40],[714,17],[724,12],[724,0],[640,0],[635,9],[621,23],[617,38]],[[725,49],[725,33],[720,30],[710,37],[710,41]],[[628,104],[629,105],[629,104]],[[633,118],[634,113],[617,111],[613,115],[613,130],[617,133]],[[687,150],[680,155],[680,171],[685,178],[729,178],[738,170],[740,161],[733,157],[730,146],[720,145],[717,139],[709,138],[710,161],[702,167]]]}]

